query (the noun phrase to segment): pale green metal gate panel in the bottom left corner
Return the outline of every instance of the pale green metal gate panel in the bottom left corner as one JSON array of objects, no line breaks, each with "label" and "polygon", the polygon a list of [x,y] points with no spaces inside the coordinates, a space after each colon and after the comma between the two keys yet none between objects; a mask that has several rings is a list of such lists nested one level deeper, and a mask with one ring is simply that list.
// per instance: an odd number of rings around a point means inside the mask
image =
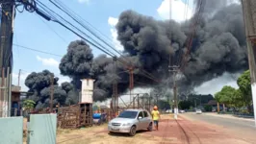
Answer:
[{"label": "pale green metal gate panel in the bottom left corner", "polygon": [[0,144],[22,144],[23,117],[0,118]]}]

